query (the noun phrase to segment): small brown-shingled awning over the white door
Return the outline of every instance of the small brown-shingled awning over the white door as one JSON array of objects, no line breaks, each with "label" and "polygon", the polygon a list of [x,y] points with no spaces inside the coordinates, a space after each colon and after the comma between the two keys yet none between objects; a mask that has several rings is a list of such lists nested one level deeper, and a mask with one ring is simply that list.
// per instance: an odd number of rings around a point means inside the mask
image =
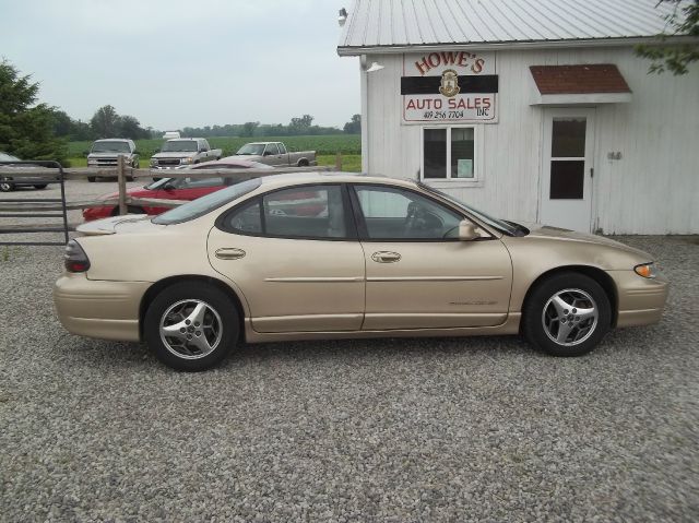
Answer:
[{"label": "small brown-shingled awning over the white door", "polygon": [[531,105],[596,105],[631,102],[631,90],[613,63],[531,66]]}]

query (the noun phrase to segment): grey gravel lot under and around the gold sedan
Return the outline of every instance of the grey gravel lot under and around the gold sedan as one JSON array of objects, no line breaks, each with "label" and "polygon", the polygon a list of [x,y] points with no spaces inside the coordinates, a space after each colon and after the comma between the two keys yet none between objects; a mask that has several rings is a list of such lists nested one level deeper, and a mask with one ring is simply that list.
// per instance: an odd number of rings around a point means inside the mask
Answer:
[{"label": "grey gravel lot under and around the gold sedan", "polygon": [[588,357],[306,342],[197,375],[66,333],[61,248],[0,247],[0,520],[697,521],[699,239],[618,239],[670,304]]}]

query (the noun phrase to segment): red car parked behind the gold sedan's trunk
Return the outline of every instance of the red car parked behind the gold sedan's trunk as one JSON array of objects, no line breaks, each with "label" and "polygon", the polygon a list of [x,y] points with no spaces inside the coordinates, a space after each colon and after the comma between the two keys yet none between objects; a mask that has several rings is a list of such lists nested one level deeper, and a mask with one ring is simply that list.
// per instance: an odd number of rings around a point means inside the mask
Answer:
[{"label": "red car parked behind the gold sedan's trunk", "polygon": [[[222,158],[215,162],[206,162],[189,167],[191,169],[270,169],[274,167],[260,164],[259,162],[248,162],[245,159]],[[233,178],[215,176],[212,178],[162,178],[145,187],[129,189],[127,194],[133,198],[154,198],[159,200],[197,200],[200,197],[224,189],[233,183]],[[118,192],[99,197],[103,200],[117,198]],[[129,205],[129,213],[156,215],[168,211],[171,207],[158,206],[137,206]],[[85,222],[92,219],[107,218],[119,214],[118,205],[104,205],[83,210]]]}]

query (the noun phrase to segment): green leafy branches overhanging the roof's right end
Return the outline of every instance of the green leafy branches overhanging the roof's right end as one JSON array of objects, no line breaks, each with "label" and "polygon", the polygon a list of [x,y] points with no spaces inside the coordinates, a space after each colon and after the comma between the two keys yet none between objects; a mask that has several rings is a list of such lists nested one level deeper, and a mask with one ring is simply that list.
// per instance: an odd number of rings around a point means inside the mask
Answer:
[{"label": "green leafy branches overhanging the roof's right end", "polygon": [[[672,3],[673,11],[665,16],[667,29],[659,35],[659,45],[640,45],[636,54],[652,60],[649,72],[662,73],[672,71],[673,74],[686,74],[688,66],[699,60],[699,0],[660,0],[661,3]],[[687,36],[688,41],[667,43],[668,37]],[[694,38],[691,38],[694,37]]]}]

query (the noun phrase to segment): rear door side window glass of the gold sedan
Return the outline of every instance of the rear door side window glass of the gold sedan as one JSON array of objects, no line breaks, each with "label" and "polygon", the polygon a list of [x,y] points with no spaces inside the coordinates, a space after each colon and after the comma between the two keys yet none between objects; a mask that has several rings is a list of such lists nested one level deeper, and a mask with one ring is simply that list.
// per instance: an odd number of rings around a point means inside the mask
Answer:
[{"label": "rear door side window glass of the gold sedan", "polygon": [[274,238],[344,239],[348,236],[341,186],[274,191],[256,203],[236,209],[222,225],[233,233]]}]

